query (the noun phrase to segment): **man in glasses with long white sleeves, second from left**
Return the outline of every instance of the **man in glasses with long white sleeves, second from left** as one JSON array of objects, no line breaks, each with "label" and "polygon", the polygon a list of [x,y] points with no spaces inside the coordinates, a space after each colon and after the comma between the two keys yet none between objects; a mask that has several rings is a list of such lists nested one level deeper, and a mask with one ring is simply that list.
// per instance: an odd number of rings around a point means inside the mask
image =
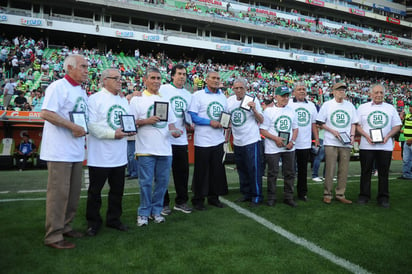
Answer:
[{"label": "man in glasses with long white sleeves, second from left", "polygon": [[[87,191],[87,235],[95,236],[103,220],[100,215],[101,191],[106,180],[110,191],[106,212],[106,226],[120,231],[128,228],[120,221],[127,164],[127,136],[136,134],[129,103],[119,95],[122,78],[116,69],[106,69],[101,76],[102,89],[89,97],[89,138],[87,165],[90,184]],[[132,118],[131,123],[127,118]],[[123,119],[123,121],[122,121]],[[126,122],[125,122],[126,121]]]}]

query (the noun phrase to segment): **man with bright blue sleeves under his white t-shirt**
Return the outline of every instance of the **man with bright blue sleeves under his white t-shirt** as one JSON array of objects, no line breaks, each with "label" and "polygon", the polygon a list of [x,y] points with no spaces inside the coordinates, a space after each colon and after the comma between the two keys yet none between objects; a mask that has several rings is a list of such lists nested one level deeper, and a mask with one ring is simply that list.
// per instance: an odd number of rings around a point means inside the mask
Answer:
[{"label": "man with bright blue sleeves under his white t-shirt", "polygon": [[227,110],[226,96],[219,89],[220,75],[210,71],[206,76],[206,88],[193,94],[189,113],[195,124],[195,167],[192,188],[192,204],[197,210],[205,210],[207,197],[210,205],[222,208],[219,195],[228,192],[226,171],[223,165],[222,112]]}]

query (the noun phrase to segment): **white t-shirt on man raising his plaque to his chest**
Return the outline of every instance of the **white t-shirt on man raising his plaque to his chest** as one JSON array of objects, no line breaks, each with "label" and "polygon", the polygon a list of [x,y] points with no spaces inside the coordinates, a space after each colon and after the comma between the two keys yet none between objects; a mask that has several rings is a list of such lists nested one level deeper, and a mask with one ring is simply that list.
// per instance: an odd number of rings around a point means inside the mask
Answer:
[{"label": "white t-shirt on man raising his plaque to his chest", "polygon": [[[255,97],[256,111],[262,114],[262,107]],[[235,146],[246,146],[260,141],[259,125],[253,111],[240,108],[241,101],[232,95],[227,99],[227,109],[231,113],[233,144]]]}]

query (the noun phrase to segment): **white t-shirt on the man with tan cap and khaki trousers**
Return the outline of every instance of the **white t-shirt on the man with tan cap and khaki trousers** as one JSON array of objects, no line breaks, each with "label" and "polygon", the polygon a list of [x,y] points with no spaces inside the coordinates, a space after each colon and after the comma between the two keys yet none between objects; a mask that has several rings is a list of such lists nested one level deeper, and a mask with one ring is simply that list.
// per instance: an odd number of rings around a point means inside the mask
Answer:
[{"label": "white t-shirt on the man with tan cap and khaki trousers", "polygon": [[[338,103],[335,99],[323,103],[316,120],[325,123],[326,126],[338,132],[346,132],[349,137],[352,124],[359,122],[356,109],[352,103],[345,100]],[[323,144],[325,146],[351,147],[351,145],[343,145],[338,138],[327,130],[325,130]]]}]

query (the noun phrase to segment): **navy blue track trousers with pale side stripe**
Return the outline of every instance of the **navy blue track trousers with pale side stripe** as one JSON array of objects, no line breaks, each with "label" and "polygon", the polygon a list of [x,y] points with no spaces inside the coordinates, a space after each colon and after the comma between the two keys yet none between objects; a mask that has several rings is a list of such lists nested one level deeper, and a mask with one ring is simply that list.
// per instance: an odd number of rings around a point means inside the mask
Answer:
[{"label": "navy blue track trousers with pale side stripe", "polygon": [[260,149],[259,142],[246,146],[234,146],[240,193],[254,203],[260,203],[263,200]]}]

